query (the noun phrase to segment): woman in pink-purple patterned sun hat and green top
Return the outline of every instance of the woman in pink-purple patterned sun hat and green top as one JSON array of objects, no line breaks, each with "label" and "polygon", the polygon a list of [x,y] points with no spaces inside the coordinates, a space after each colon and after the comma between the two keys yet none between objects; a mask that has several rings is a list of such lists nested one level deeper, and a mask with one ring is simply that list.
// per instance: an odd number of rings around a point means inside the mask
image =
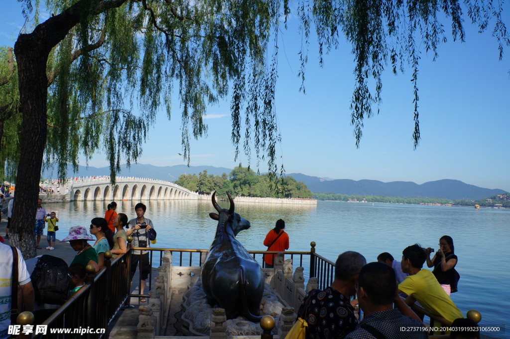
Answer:
[{"label": "woman in pink-purple patterned sun hat and green top", "polygon": [[72,249],[78,252],[69,266],[75,263],[81,263],[84,266],[92,265],[97,273],[99,271],[97,252],[87,240],[94,240],[92,235],[87,234],[87,229],[82,226],[73,226],[69,229],[69,235],[61,242],[69,241]]}]

